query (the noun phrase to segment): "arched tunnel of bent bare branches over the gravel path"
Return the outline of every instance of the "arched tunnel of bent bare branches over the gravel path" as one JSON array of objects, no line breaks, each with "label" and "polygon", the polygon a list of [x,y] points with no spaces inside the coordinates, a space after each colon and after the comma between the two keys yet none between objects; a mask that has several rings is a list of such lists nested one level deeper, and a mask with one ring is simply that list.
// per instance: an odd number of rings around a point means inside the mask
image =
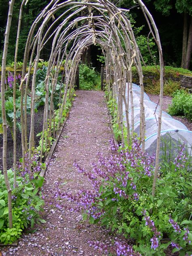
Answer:
[{"label": "arched tunnel of bent bare branches over the gravel path", "polygon": [[[17,42],[15,48],[15,67],[14,67],[14,163],[15,171],[14,183],[16,185],[16,63],[19,43],[19,33],[22,19],[22,9],[28,0],[23,0],[20,9]],[[141,0],[137,0],[143,15],[149,26],[149,31],[154,37],[158,46],[160,59],[160,101],[156,122],[158,123],[157,146],[156,146],[156,165],[154,171],[154,181],[152,185],[152,196],[155,194],[156,179],[159,167],[160,152],[160,132],[162,119],[162,96],[164,83],[164,64],[158,30],[153,17]],[[5,67],[6,53],[9,42],[9,30],[11,26],[11,15],[13,12],[14,0],[10,2],[9,19],[5,34],[5,47],[2,62],[1,77],[1,100],[2,100],[2,119],[3,119],[3,171],[8,190],[9,198],[9,224],[12,226],[11,217],[11,187],[7,176],[6,167],[6,137],[7,124],[5,112]],[[129,19],[129,11],[117,8],[108,0],[51,0],[43,11],[36,17],[31,26],[26,41],[25,53],[23,56],[23,69],[20,83],[21,93],[21,143],[22,143],[22,168],[25,169],[25,158],[29,162],[34,151],[34,114],[36,102],[36,73],[38,64],[41,62],[41,52],[46,49],[47,43],[52,42],[51,53],[49,56],[48,67],[45,81],[45,105],[43,114],[43,131],[41,133],[41,148],[39,149],[40,162],[45,160],[51,147],[50,138],[55,139],[62,126],[67,102],[73,97],[76,87],[76,77],[81,55],[90,45],[99,45],[105,56],[106,84],[105,90],[108,92],[108,100],[113,99],[117,103],[117,116],[115,123],[121,131],[122,145],[131,145],[134,138],[134,96],[132,88],[132,66],[135,66],[139,75],[139,141],[143,151],[145,151],[145,107],[144,107],[144,87],[142,73],[142,56],[134,38],[134,33]],[[28,66],[28,68],[27,68]],[[60,80],[58,77],[60,76]],[[32,84],[30,85],[30,77]],[[27,100],[28,87],[31,86],[31,109],[30,109],[30,137],[27,136]],[[56,87],[60,87],[58,105],[53,103]],[[131,111],[131,115],[129,112]],[[125,112],[125,114],[123,113]],[[126,120],[126,125],[124,124]],[[124,129],[126,127],[126,136]],[[32,164],[28,166],[32,171]]]}]

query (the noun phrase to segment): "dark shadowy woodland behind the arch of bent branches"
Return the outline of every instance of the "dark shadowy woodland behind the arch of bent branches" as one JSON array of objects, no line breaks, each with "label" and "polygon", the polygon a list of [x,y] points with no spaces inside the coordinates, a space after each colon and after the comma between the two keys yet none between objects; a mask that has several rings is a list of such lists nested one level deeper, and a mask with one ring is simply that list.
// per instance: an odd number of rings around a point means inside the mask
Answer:
[{"label": "dark shadowy woodland behind the arch of bent branches", "polygon": [[[130,9],[130,14],[135,19],[135,27],[143,27],[141,34],[147,36],[149,33],[145,18],[134,0],[111,0],[116,5]],[[187,17],[187,31],[189,34],[190,19],[192,15],[192,4],[190,0],[145,0],[149,11],[156,21],[163,47],[164,60],[166,65],[175,67],[181,66],[182,44],[183,44],[183,17]],[[30,26],[41,10],[49,3],[49,0],[30,0],[23,10],[23,21],[21,28],[21,36],[19,41],[18,61],[22,61],[25,43],[30,30]],[[15,41],[17,34],[17,20],[19,17],[19,6],[21,0],[15,1],[13,21],[11,27],[11,37],[9,41],[9,53],[7,63],[14,60]],[[2,58],[2,48],[4,44],[4,31],[6,26],[7,13],[9,8],[9,0],[0,0],[0,62]],[[51,42],[43,50],[41,58],[47,60]],[[96,60],[98,51],[90,51],[91,59]],[[93,62],[93,61],[92,61]],[[98,65],[98,62],[95,63]],[[192,69],[192,61],[190,61],[190,69]]]}]

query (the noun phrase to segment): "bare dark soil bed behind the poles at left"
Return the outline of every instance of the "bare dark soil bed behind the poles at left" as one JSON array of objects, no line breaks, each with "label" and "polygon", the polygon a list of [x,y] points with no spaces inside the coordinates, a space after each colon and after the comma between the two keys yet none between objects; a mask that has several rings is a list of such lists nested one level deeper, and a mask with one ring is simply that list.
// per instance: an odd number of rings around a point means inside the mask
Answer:
[{"label": "bare dark soil bed behind the poles at left", "polygon": [[[36,137],[36,134],[43,130],[43,112],[44,107],[39,107],[38,112],[34,115],[34,142],[35,146],[38,146],[40,137]],[[19,121],[19,120],[18,120]],[[28,115],[28,139],[30,134],[30,115]],[[0,134],[0,170],[3,169],[2,166],[2,147],[3,147],[3,134]],[[13,166],[13,139],[11,137],[10,128],[7,128],[7,168],[10,169]],[[22,157],[22,147],[21,147],[21,132],[17,129],[17,161]]]}]

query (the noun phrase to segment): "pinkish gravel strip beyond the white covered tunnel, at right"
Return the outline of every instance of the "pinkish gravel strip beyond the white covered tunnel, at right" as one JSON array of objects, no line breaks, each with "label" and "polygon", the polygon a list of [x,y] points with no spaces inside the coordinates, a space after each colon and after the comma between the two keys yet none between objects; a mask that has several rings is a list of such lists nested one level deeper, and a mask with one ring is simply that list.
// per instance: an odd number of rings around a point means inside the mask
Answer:
[{"label": "pinkish gravel strip beyond the white covered tunnel, at right", "polygon": [[[159,101],[159,95],[147,94],[151,101],[155,102],[156,104]],[[163,96],[163,111],[168,112],[169,104],[171,104],[172,97],[171,96]],[[173,116],[174,119],[183,123],[188,130],[192,131],[192,122],[190,122],[186,117],[180,116]]]}]

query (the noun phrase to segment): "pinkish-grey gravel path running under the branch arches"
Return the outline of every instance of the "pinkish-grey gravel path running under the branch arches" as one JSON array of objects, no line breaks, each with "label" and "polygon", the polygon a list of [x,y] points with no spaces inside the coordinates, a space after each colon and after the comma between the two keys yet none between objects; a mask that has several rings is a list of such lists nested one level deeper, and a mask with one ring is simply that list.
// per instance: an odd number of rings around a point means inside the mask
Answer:
[{"label": "pinkish-grey gravel path running under the branch arches", "polygon": [[4,255],[102,255],[89,246],[88,241],[102,240],[110,243],[109,231],[82,222],[80,213],[71,212],[73,207],[63,201],[63,208],[51,205],[55,182],[66,182],[61,190],[75,192],[89,188],[89,181],[73,167],[74,160],[86,169],[97,159],[97,153],[107,154],[111,130],[104,93],[78,91],[70,116],[45,175],[45,224],[36,225],[34,234],[23,235],[19,246],[6,247]]}]

